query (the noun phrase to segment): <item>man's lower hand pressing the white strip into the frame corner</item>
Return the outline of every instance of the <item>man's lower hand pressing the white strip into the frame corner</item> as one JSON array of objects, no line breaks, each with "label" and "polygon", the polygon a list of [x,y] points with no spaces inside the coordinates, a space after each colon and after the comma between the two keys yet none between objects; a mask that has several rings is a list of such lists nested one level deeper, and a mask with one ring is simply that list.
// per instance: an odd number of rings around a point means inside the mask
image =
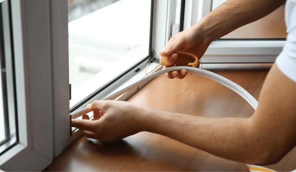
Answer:
[{"label": "man's lower hand pressing the white strip into the frame corner", "polygon": [[141,115],[149,108],[135,106],[126,101],[99,101],[89,104],[94,120],[84,114],[82,119],[72,119],[72,127],[84,130],[86,137],[102,142],[113,142],[143,131]]}]

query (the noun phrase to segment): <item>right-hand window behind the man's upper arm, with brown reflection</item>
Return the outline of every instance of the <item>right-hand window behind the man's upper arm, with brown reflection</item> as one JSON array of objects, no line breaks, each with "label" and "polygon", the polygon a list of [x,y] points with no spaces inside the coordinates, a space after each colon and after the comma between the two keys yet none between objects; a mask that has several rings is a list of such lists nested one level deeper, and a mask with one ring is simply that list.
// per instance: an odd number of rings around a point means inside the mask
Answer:
[{"label": "right-hand window behind the man's upper arm, with brown reflection", "polygon": [[[223,2],[225,0],[186,0],[184,29],[194,25]],[[203,67],[270,67],[285,44],[287,33],[283,10],[281,6],[263,19],[212,42],[202,58]]]}]

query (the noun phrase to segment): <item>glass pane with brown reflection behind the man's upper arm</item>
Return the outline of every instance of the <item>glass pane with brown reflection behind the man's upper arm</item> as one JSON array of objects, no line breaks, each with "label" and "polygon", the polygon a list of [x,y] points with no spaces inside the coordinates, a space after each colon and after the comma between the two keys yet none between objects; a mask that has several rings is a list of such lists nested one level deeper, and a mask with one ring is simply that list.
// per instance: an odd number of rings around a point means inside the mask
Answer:
[{"label": "glass pane with brown reflection behind the man's upper arm", "polygon": [[[227,0],[213,0],[212,10]],[[222,39],[272,39],[286,38],[286,24],[284,19],[284,5],[271,14],[255,22],[247,24],[225,35]]]}]

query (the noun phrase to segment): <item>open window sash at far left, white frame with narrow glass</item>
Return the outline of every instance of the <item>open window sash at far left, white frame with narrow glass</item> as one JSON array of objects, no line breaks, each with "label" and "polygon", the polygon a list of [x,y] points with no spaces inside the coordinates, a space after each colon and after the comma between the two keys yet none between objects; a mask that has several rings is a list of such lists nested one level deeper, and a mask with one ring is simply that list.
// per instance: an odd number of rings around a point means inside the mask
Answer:
[{"label": "open window sash at far left, white frame with narrow glass", "polygon": [[0,4],[0,169],[41,171],[54,150],[49,1]]}]

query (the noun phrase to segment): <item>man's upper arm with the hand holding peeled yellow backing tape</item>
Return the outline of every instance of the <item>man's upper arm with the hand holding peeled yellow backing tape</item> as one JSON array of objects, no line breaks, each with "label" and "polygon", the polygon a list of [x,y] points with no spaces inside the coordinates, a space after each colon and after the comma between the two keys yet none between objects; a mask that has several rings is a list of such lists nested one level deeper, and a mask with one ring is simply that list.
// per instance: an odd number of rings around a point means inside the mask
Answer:
[{"label": "man's upper arm with the hand holding peeled yellow backing tape", "polygon": [[[174,35],[160,52],[163,68],[176,64],[187,65],[188,58],[176,54],[180,50],[192,50],[201,58],[212,41],[229,32],[270,14],[286,0],[228,0],[203,17],[187,30]],[[180,56],[180,57],[179,57]],[[187,59],[187,60],[186,60]],[[193,67],[198,67],[199,63]],[[168,78],[182,79],[188,71],[171,71]]]}]

